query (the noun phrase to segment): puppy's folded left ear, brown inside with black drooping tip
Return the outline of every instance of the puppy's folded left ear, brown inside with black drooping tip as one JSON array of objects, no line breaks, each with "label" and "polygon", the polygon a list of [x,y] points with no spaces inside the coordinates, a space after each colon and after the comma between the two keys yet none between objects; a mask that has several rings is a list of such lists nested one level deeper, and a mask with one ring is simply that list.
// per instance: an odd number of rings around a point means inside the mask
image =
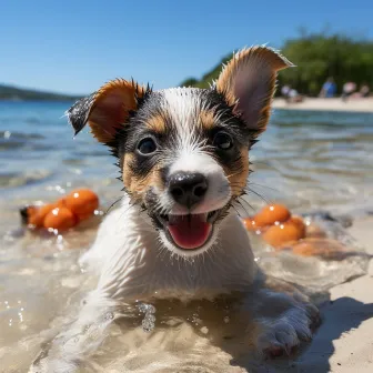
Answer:
[{"label": "puppy's folded left ear, brown inside with black drooping tip", "polygon": [[84,125],[105,144],[110,143],[119,129],[128,121],[130,112],[137,110],[138,99],[145,94],[145,88],[135,82],[117,79],[99,91],[75,102],[68,111],[70,124],[78,134]]}]

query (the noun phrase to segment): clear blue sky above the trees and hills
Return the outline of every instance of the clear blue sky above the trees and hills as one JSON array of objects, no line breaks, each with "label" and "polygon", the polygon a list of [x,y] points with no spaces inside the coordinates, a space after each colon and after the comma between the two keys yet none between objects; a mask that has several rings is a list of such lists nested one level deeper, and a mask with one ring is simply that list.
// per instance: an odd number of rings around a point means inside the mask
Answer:
[{"label": "clear blue sky above the trees and hills", "polygon": [[133,77],[161,89],[201,77],[233,49],[279,48],[300,27],[373,39],[372,14],[372,0],[3,0],[0,83],[89,93]]}]

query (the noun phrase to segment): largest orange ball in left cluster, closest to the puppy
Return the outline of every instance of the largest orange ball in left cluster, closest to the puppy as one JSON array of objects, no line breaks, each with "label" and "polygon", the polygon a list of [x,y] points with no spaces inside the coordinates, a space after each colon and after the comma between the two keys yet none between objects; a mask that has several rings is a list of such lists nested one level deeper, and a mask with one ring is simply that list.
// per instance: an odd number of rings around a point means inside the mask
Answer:
[{"label": "largest orange ball in left cluster, closest to the puppy", "polygon": [[85,220],[99,208],[98,195],[89,189],[78,189],[61,201],[79,220]]}]

